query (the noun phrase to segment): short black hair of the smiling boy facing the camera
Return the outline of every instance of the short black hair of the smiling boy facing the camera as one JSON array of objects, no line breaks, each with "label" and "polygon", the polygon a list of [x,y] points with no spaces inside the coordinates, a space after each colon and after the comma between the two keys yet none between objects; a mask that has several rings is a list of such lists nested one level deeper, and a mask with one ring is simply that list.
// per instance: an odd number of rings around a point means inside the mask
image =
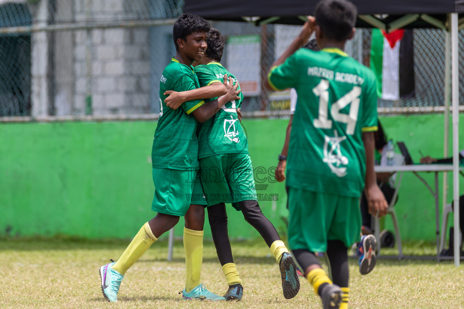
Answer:
[{"label": "short black hair of the smiling boy facing the camera", "polygon": [[193,32],[208,32],[211,25],[202,17],[190,13],[181,14],[174,23],[173,38],[175,50],[179,50],[177,39],[185,41],[188,35]]}]

